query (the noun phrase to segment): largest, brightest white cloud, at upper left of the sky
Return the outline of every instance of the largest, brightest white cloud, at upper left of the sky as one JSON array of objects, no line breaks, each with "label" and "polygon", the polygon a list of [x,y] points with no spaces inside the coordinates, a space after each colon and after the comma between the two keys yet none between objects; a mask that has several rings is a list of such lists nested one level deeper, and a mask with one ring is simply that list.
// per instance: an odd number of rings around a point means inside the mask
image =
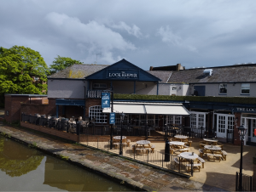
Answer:
[{"label": "largest, brightest white cloud, at upper left of the sky", "polygon": [[95,20],[84,24],[76,17],[55,12],[47,14],[45,20],[59,36],[72,39],[78,47],[87,48],[90,53],[95,50],[108,53],[113,49],[121,51],[136,49],[135,45],[125,41],[118,32]]}]

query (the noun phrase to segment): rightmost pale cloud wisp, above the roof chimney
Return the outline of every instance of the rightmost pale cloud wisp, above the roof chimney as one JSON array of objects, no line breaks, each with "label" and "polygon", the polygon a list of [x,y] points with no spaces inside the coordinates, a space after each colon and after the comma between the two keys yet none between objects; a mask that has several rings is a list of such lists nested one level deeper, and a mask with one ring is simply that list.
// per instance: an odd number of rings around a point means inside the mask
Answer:
[{"label": "rightmost pale cloud wisp, above the roof chimney", "polygon": [[166,27],[161,26],[160,29],[157,31],[157,35],[162,38],[162,42],[166,42],[169,45],[174,45],[180,48],[187,48],[189,51],[196,51],[194,46],[191,46],[183,40],[182,37],[177,36],[172,32],[169,25]]}]

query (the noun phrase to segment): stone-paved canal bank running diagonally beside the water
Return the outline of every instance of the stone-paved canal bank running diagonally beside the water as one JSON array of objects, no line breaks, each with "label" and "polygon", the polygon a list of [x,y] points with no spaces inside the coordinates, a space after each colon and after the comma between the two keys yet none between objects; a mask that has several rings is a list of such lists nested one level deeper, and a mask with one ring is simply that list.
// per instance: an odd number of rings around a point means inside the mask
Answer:
[{"label": "stone-paved canal bank running diagonally beside the water", "polygon": [[182,178],[170,172],[148,167],[135,161],[129,161],[118,155],[110,155],[99,150],[65,142],[46,134],[32,132],[25,128],[9,127],[0,124],[0,132],[6,137],[18,140],[43,150],[61,159],[75,163],[102,175],[113,178],[119,184],[125,184],[142,191],[166,192],[178,191],[226,191],[214,186],[201,184]]}]

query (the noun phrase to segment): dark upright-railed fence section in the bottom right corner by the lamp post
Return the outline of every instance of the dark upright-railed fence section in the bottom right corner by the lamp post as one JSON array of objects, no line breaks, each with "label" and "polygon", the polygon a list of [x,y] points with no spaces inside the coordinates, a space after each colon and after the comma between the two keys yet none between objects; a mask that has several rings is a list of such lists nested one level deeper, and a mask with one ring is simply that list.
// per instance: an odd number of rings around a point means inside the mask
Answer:
[{"label": "dark upright-railed fence section in the bottom right corner by the lamp post", "polygon": [[[236,191],[240,191],[239,189],[239,177],[240,177],[240,172],[236,172]],[[241,174],[241,191],[243,192],[253,192],[253,177],[246,175],[246,174]]]}]

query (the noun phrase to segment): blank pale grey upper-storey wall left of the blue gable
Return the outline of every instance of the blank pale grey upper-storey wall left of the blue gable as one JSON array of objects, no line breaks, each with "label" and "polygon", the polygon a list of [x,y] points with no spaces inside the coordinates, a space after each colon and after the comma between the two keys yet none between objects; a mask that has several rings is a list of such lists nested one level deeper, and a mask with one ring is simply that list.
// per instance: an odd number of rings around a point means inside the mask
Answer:
[{"label": "blank pale grey upper-storey wall left of the blue gable", "polygon": [[84,99],[83,80],[48,80],[48,98]]}]

